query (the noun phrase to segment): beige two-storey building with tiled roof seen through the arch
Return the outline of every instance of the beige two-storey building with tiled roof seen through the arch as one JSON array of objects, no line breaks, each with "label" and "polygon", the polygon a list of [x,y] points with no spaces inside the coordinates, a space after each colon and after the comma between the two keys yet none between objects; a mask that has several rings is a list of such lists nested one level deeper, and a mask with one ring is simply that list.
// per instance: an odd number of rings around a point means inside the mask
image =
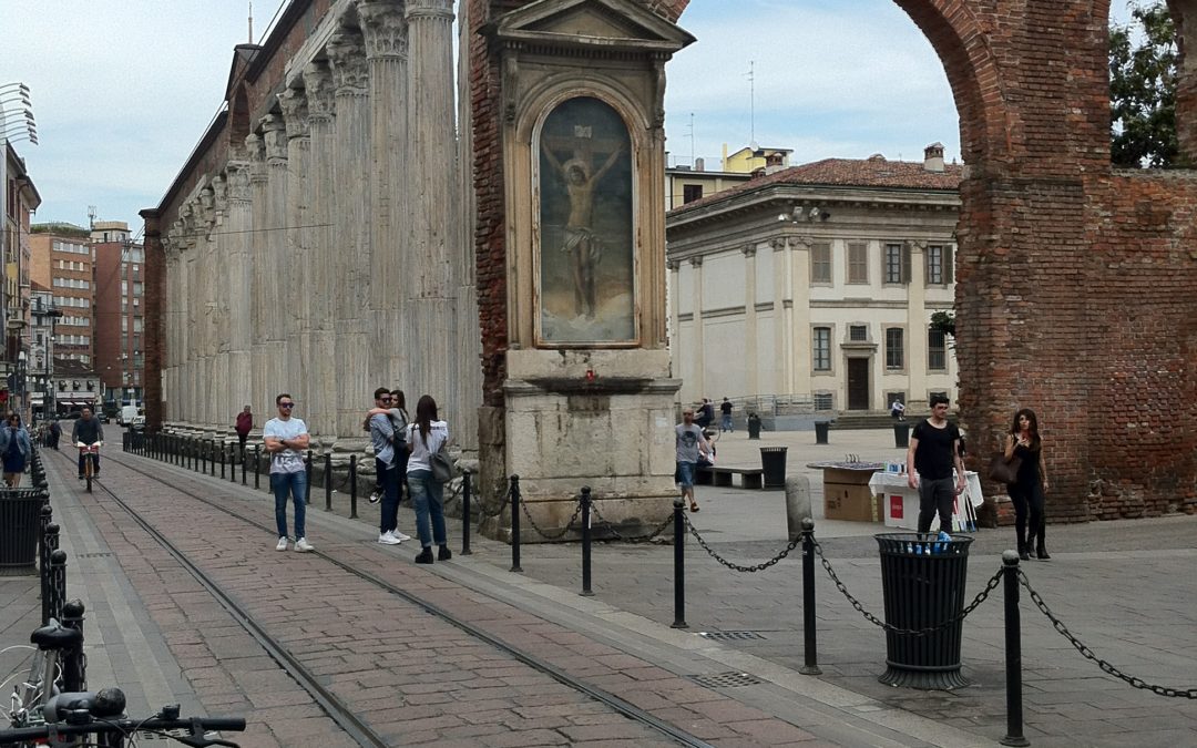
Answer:
[{"label": "beige two-storey building with tiled roof seen through the arch", "polygon": [[949,340],[961,168],[826,159],[667,217],[682,402],[776,397],[810,412],[955,396]]}]

